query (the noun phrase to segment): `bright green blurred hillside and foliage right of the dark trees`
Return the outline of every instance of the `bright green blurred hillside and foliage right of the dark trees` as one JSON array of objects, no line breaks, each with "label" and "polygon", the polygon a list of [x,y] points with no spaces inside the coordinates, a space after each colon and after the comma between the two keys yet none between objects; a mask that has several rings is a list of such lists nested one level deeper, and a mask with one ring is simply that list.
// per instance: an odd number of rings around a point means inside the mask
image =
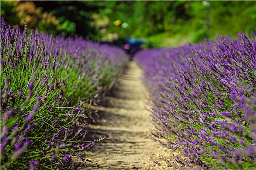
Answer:
[{"label": "bright green blurred hillside and foliage right of the dark trees", "polygon": [[[256,26],[256,1],[209,0],[209,8],[202,1],[187,0],[99,3],[105,7],[100,14],[110,19],[107,32],[116,31],[112,23],[117,19],[128,23],[127,28],[119,31],[123,37],[127,33],[139,38],[165,34],[195,43],[205,40],[208,34],[214,39],[216,34],[255,31]],[[210,9],[208,19],[207,8]]]}]

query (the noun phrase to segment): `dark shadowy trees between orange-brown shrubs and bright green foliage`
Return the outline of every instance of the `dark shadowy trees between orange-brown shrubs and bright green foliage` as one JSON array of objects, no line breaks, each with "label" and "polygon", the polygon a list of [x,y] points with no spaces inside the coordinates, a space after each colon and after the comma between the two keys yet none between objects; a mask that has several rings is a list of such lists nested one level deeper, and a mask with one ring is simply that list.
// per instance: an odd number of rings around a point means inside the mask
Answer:
[{"label": "dark shadowy trees between orange-brown shrubs and bright green foliage", "polygon": [[[101,8],[97,1],[84,0],[37,0],[33,1],[43,11],[51,12],[60,20],[65,20],[63,27],[69,28],[69,24],[75,24],[75,33],[79,36],[97,39],[96,28],[92,26],[92,15]],[[71,21],[68,22],[67,20]],[[60,27],[58,27],[60,28]]]}]

